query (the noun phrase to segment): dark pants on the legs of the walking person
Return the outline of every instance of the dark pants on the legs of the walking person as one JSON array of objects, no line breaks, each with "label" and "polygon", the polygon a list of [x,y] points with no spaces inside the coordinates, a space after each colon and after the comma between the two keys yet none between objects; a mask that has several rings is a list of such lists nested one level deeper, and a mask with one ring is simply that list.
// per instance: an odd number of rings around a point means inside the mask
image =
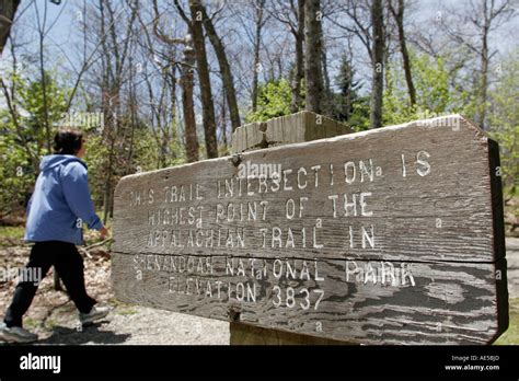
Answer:
[{"label": "dark pants on the legs of the walking person", "polygon": [[[37,274],[41,269],[43,279],[50,266],[54,266],[58,273],[78,310],[89,313],[95,300],[86,295],[83,258],[76,245],[60,241],[35,243],[25,270]],[[34,279],[20,279],[14,290],[13,301],[3,319],[7,326],[22,326],[22,316],[28,310],[37,289],[38,284]]]}]

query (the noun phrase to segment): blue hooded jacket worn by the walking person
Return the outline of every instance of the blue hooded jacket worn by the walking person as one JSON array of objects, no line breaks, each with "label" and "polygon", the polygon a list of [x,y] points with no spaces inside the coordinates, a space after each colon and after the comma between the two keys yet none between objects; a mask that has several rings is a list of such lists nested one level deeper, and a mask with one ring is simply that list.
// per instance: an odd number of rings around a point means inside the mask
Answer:
[{"label": "blue hooded jacket worn by the walking person", "polygon": [[71,154],[44,157],[27,207],[25,240],[83,243],[82,224],[101,230],[90,198],[86,164]]}]

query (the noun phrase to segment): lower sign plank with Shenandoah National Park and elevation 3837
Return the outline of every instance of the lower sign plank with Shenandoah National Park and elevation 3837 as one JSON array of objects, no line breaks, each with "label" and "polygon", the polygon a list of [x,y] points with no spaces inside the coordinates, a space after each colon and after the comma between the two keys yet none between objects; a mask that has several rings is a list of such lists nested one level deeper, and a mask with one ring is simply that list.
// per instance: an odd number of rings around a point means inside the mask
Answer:
[{"label": "lower sign plank with Shenandoah National Park and elevation 3837", "polygon": [[[163,265],[164,255],[158,255]],[[245,272],[245,276],[226,274],[226,257],[212,257],[214,274],[199,275],[196,270],[178,274],[170,267],[158,270],[155,256],[151,256],[150,269],[140,264],[142,257],[114,253],[113,287],[122,301],[153,308],[195,314],[224,321],[242,323],[312,336],[362,344],[486,344],[496,338],[506,327],[496,320],[495,270],[506,268],[504,259],[498,264],[466,263],[412,263],[405,266],[412,272],[415,286],[392,286],[389,282],[373,285],[371,278],[346,280],[346,261],[319,261],[320,276],[324,280],[292,279],[291,276],[276,278],[272,270],[258,280]],[[234,261],[240,258],[233,257]],[[247,258],[242,258],[246,264]],[[166,259],[166,262],[170,259]],[[272,269],[275,259],[263,259]],[[265,263],[256,258],[256,265]],[[293,267],[300,268],[302,259],[295,259]],[[356,261],[360,268],[368,263]],[[401,266],[402,264],[394,264]],[[380,264],[371,263],[373,268]],[[310,265],[311,274],[314,264]],[[353,265],[349,264],[353,269]],[[137,275],[142,270],[142,277]],[[185,295],[175,292],[176,284],[170,279],[189,280]],[[197,280],[195,280],[197,279]],[[211,282],[212,298],[206,295],[207,280]],[[200,287],[197,291],[196,282]],[[216,281],[221,281],[220,298]],[[227,286],[231,282],[231,297]],[[243,298],[238,284],[255,284],[256,300]],[[281,303],[278,302],[278,286]],[[252,287],[252,286],[251,286]],[[287,307],[286,290],[295,289],[295,305]],[[310,308],[305,292],[310,292]],[[184,289],[182,289],[184,290]],[[323,298],[315,309],[318,292]],[[198,295],[198,292],[200,292]],[[291,305],[291,302],[289,303]]]}]

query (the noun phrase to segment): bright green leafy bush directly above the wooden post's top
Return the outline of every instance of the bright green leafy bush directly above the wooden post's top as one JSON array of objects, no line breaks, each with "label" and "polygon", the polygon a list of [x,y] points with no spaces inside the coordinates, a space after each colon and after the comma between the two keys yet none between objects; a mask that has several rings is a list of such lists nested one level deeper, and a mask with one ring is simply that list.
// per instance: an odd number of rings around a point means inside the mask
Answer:
[{"label": "bright green leafy bush directly above the wooden post's top", "polygon": [[246,115],[245,122],[266,122],[290,114],[292,93],[286,79],[270,81],[258,86],[257,109]]}]

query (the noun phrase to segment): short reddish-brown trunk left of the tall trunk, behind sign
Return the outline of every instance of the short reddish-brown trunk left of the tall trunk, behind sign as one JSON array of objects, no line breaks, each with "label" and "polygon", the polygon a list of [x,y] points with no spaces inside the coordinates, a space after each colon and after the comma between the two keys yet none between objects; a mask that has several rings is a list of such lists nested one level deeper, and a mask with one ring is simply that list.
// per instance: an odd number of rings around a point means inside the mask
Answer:
[{"label": "short reddish-brown trunk left of the tall trunk, behind sign", "polygon": [[[189,35],[186,41],[191,42]],[[182,65],[182,109],[184,113],[186,157],[189,163],[198,161],[198,137],[196,136],[195,104],[193,102],[194,66],[194,49],[191,44],[187,44],[184,48],[184,62]]]}]

